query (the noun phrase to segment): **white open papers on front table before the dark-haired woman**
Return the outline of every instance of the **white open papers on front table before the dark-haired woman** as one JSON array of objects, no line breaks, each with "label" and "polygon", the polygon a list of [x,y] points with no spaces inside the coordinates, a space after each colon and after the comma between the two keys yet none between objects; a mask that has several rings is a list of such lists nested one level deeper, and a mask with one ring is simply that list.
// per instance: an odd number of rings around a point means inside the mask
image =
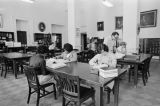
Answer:
[{"label": "white open papers on front table before the dark-haired woman", "polygon": [[48,59],[46,60],[46,66],[57,69],[66,66],[66,64],[62,61],[57,61],[57,59]]}]

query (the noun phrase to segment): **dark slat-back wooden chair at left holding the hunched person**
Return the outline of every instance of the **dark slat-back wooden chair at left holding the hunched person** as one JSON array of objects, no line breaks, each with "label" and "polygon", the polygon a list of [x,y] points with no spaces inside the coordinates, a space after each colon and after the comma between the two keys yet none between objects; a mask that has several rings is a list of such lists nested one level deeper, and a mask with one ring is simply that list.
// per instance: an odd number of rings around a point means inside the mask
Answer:
[{"label": "dark slat-back wooden chair at left holding the hunched person", "polygon": [[[54,93],[54,98],[56,99],[56,88],[55,88],[54,83],[40,84],[39,80],[38,80],[36,69],[37,68],[35,68],[35,67],[30,67],[30,66],[25,66],[24,65],[24,71],[25,71],[25,75],[27,77],[28,87],[29,87],[27,104],[29,104],[31,94],[37,93],[37,104],[36,104],[36,106],[39,106],[39,99],[41,97],[44,97],[44,96],[48,95],[48,94]],[[53,86],[53,91],[47,91],[45,89],[49,86]],[[33,91],[32,91],[32,89],[33,89]]]}]

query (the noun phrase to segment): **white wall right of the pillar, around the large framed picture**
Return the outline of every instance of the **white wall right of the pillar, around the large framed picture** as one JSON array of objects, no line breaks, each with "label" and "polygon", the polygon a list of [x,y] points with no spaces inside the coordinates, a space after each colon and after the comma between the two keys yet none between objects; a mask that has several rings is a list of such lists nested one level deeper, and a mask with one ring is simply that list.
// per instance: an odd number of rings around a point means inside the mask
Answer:
[{"label": "white wall right of the pillar, around the large framed picture", "polygon": [[157,26],[140,29],[140,38],[160,38],[160,0],[140,0],[140,12],[157,9]]}]

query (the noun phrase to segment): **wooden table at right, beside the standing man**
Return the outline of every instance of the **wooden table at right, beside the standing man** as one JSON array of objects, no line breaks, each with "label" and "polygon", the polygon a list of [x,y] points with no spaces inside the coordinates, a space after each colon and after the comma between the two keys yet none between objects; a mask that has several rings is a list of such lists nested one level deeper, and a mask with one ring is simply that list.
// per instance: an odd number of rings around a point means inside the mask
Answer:
[{"label": "wooden table at right, beside the standing man", "polygon": [[118,59],[117,64],[127,64],[134,66],[134,85],[137,87],[138,65],[143,64],[143,62],[151,56],[151,54],[126,55],[124,58]]}]

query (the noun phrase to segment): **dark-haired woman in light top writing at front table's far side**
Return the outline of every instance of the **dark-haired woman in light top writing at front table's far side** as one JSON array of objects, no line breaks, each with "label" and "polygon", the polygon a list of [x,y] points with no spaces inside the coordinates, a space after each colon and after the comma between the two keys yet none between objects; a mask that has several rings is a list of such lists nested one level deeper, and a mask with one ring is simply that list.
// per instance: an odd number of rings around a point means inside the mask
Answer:
[{"label": "dark-haired woman in light top writing at front table's far side", "polygon": [[73,50],[73,46],[69,43],[64,44],[64,52],[57,56],[57,58],[62,58],[69,61],[77,61],[77,53]]}]

